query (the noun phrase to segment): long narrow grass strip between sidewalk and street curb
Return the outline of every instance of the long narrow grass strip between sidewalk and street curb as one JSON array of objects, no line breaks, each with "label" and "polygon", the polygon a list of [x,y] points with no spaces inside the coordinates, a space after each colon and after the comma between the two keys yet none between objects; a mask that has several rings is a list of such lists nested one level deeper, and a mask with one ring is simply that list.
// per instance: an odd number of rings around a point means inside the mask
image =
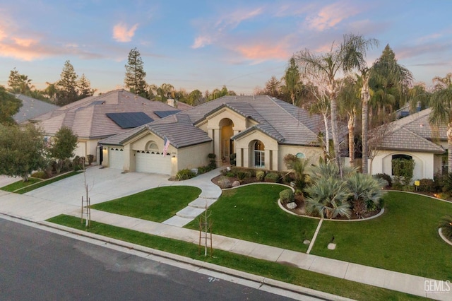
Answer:
[{"label": "long narrow grass strip between sidewalk and street curb", "polygon": [[293,266],[285,266],[271,261],[261,259],[254,259],[251,257],[233,254],[221,250],[213,251],[213,258],[198,255],[198,245],[189,242],[181,242],[172,240],[166,237],[157,237],[155,235],[148,235],[143,232],[115,227],[112,225],[105,225],[103,223],[92,222],[90,228],[86,229],[81,223],[80,218],[73,216],[57,216],[48,220],[59,225],[66,225],[71,228],[79,230],[86,230],[88,232],[96,233],[107,237],[112,237],[117,240],[123,240],[134,244],[141,244],[145,247],[153,249],[160,249],[165,252],[179,254],[197,259],[200,261],[207,261],[212,264],[220,266],[227,266],[239,271],[253,273],[268,278],[273,278],[286,283],[295,285],[302,285],[306,288],[314,290],[321,290],[326,293],[341,295],[355,300],[422,300],[424,298],[405,293],[399,293],[393,290],[386,290],[383,288],[376,288],[371,285],[347,281],[341,278],[326,276],[312,271],[306,271],[301,268]]}]

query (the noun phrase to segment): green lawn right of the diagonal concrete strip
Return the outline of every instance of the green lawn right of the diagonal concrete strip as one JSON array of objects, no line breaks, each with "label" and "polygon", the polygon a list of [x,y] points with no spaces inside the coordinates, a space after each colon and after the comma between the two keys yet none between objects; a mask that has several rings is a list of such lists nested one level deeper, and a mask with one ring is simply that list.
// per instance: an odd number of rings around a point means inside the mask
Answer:
[{"label": "green lawn right of the diagonal concrete strip", "polygon": [[[452,203],[388,192],[385,213],[360,222],[324,220],[311,254],[438,280],[452,280],[452,246],[438,235]],[[334,235],[335,250],[326,246]]]}]

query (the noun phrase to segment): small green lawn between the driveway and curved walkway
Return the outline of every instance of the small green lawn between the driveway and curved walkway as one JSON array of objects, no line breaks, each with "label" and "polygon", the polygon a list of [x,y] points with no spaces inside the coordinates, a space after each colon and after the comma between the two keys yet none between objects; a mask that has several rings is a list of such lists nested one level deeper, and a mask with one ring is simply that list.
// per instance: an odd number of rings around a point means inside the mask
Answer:
[{"label": "small green lawn between the driveway and curved walkway", "polygon": [[201,189],[197,187],[157,187],[113,201],[97,203],[91,208],[160,223],[185,208],[199,194]]}]

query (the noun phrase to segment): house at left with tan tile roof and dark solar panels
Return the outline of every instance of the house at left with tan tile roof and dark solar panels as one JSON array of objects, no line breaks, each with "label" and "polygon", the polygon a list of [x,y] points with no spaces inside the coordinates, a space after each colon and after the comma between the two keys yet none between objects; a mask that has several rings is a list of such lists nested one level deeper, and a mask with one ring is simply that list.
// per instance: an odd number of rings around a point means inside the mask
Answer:
[{"label": "house at left with tan tile roof and dark solar panels", "polygon": [[61,126],[68,126],[78,136],[75,155],[94,155],[94,160],[101,163],[102,151],[97,142],[179,111],[126,90],[114,90],[59,107],[32,122],[41,126],[47,136],[54,136]]}]

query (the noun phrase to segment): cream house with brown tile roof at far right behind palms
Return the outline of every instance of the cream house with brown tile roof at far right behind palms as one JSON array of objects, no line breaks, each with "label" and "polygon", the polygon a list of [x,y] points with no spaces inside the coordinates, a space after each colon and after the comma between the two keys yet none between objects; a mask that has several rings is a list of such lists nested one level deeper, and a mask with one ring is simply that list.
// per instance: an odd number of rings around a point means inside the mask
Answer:
[{"label": "cream house with brown tile roof at far right behind palms", "polygon": [[446,126],[434,133],[429,124],[430,112],[422,110],[376,129],[377,138],[369,140],[369,145],[378,146],[375,157],[369,160],[372,175],[393,175],[392,160],[396,158],[415,161],[413,179],[433,179],[435,173],[447,170]]}]

